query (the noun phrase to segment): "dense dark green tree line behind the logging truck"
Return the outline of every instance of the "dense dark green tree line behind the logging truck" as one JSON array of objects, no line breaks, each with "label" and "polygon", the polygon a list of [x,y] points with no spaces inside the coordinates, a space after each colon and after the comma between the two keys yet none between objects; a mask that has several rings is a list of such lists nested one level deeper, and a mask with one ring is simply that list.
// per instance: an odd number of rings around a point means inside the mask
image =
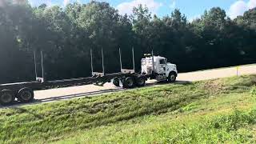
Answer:
[{"label": "dense dark green tree line behind the logging truck", "polygon": [[[30,6],[3,0],[0,5],[0,83],[34,80],[34,56],[40,74],[43,52],[47,79],[90,76],[90,49],[94,68],[101,70],[104,50],[106,72],[118,72],[118,49],[124,67],[136,70],[143,54],[162,55],[180,72],[256,62],[256,9],[235,19],[214,7],[189,22],[180,10],[162,18],[146,6],[121,15],[107,2]],[[40,76],[40,75],[39,75]]]}]

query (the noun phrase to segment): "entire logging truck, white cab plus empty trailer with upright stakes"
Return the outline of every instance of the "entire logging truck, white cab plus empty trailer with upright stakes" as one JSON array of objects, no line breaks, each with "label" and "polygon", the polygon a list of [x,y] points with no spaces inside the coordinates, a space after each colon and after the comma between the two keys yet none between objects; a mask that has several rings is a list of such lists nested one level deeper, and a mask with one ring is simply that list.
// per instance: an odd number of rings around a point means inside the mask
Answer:
[{"label": "entire logging truck, white cab plus empty trailer with upright stakes", "polygon": [[133,70],[122,68],[122,54],[119,49],[120,72],[106,74],[104,67],[104,54],[102,50],[102,72],[94,72],[93,66],[93,51],[90,50],[91,63],[91,77],[87,78],[71,78],[54,81],[45,81],[43,69],[43,55],[41,51],[41,69],[42,77],[38,77],[36,54],[34,52],[34,71],[35,81],[31,82],[16,82],[0,85],[0,104],[10,105],[15,99],[18,102],[32,102],[34,100],[34,90],[46,90],[53,87],[68,87],[68,86],[82,86],[94,84],[97,86],[104,86],[106,82],[113,82],[114,86],[122,86],[123,88],[133,88],[134,86],[145,86],[147,79],[156,79],[158,82],[174,82],[178,75],[177,67],[167,59],[152,54],[146,54],[146,58],[142,58],[141,72],[135,73],[134,66],[134,49],[133,54]]}]

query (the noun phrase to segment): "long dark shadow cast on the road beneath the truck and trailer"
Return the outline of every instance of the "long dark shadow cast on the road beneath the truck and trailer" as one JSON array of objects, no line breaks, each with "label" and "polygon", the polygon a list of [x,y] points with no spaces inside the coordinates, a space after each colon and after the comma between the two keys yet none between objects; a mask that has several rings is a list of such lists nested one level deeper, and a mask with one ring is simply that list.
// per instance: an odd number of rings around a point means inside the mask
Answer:
[{"label": "long dark shadow cast on the road beneath the truck and trailer", "polygon": [[[151,82],[147,83],[145,87],[149,86],[161,86],[161,85],[166,85],[166,84],[173,84],[173,85],[189,85],[191,82],[188,81],[177,81],[174,83],[166,83],[166,82]],[[143,87],[142,87],[143,88]],[[136,87],[134,88],[136,89]],[[109,93],[114,93],[122,90],[127,90],[124,88],[116,87],[116,89],[109,89],[109,90],[97,90],[93,92],[86,92],[86,93],[80,93],[80,94],[69,94],[69,95],[63,95],[63,96],[58,96],[58,97],[52,97],[52,98],[42,98],[42,99],[34,99],[33,102],[30,103],[23,103],[23,102],[18,102],[15,101],[12,105],[10,106],[0,106],[1,108],[15,108],[18,109],[18,106],[30,106],[34,104],[39,104],[39,103],[44,103],[44,102],[57,102],[57,101],[62,101],[62,100],[69,100],[72,98],[85,98],[85,97],[93,97],[98,94],[109,94]],[[129,89],[133,90],[133,89]]]}]

